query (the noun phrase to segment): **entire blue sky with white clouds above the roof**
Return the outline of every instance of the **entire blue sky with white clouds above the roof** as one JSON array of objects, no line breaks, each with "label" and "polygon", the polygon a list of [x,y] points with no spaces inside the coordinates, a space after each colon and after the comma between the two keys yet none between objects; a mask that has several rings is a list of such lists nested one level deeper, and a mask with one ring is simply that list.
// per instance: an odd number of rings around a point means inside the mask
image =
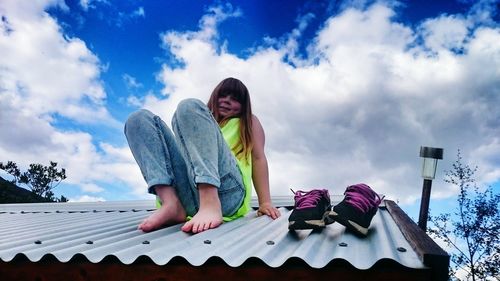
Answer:
[{"label": "entire blue sky with white clouds above the roof", "polygon": [[[496,1],[0,2],[0,161],[58,162],[73,201],[152,199],[123,135],[148,108],[249,88],[273,195],[365,182],[416,216],[421,145],[500,181]],[[7,175],[3,174],[5,178]],[[431,202],[431,208],[433,207]],[[417,206],[417,207],[416,207]]]}]

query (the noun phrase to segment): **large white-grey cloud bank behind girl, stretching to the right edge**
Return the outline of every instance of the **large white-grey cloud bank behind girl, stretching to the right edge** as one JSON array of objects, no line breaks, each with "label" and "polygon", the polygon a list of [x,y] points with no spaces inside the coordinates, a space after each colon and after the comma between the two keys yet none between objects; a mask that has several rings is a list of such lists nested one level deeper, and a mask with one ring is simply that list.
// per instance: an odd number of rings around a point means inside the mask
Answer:
[{"label": "large white-grey cloud bank behind girl, stretching to the right edge", "polygon": [[[240,58],[216,40],[224,14],[232,15],[219,11],[205,15],[197,31],[164,34],[165,48],[182,66],[163,65],[158,79],[167,97],[148,96],[144,106],[168,124],[180,100],[206,101],[220,80],[240,78],[266,130],[273,194],[289,194],[290,187],[341,194],[348,184],[366,182],[411,203],[421,192],[420,145],[445,148],[441,171],[461,148],[471,161],[489,163],[484,177],[498,180],[498,163],[483,160],[500,135],[498,28],[469,26],[458,16],[412,28],[393,20],[391,7],[374,4],[327,20],[305,59],[290,51],[298,33]],[[285,56],[301,64],[291,66]],[[472,153],[478,147],[486,152]],[[433,196],[453,195],[441,179]]]}]

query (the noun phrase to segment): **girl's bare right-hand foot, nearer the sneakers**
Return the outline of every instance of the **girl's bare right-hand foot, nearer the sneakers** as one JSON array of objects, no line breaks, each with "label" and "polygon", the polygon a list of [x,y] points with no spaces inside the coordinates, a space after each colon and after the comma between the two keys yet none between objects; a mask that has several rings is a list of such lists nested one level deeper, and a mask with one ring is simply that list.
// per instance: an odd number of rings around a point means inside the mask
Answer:
[{"label": "girl's bare right-hand foot, nearer the sneakers", "polygon": [[199,233],[222,224],[222,209],[217,188],[200,185],[200,210],[182,226],[182,231]]}]

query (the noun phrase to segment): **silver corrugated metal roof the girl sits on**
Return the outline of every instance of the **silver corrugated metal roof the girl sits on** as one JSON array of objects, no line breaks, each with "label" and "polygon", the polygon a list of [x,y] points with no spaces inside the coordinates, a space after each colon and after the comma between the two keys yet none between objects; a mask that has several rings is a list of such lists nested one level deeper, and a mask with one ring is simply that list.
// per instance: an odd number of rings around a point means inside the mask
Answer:
[{"label": "silver corrugated metal roof the girl sits on", "polygon": [[[293,201],[274,202],[286,206]],[[0,258],[9,262],[24,255],[36,262],[52,255],[67,262],[81,254],[93,263],[115,256],[131,264],[145,256],[164,265],[182,257],[200,266],[219,257],[231,267],[253,257],[270,267],[299,258],[313,268],[345,260],[358,269],[388,259],[408,268],[426,268],[384,207],[373,218],[366,238],[337,223],[320,231],[288,231],[291,210],[283,207],[277,220],[256,217],[254,211],[195,235],[182,232],[181,224],[151,233],[137,230],[152,211],[154,201],[0,205]]]}]

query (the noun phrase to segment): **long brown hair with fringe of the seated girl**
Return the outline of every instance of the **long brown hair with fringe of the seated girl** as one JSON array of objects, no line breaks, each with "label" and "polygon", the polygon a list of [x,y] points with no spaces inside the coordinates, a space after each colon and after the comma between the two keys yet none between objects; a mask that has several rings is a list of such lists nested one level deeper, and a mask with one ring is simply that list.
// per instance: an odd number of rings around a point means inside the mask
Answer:
[{"label": "long brown hair with fringe of the seated girl", "polygon": [[[241,112],[238,116],[230,116],[227,118],[220,116],[217,101],[221,95],[230,95],[241,104]],[[223,126],[229,119],[233,117],[240,118],[240,139],[236,146],[231,147],[231,149],[237,149],[237,158],[241,159],[241,157],[245,157],[248,160],[247,157],[249,156],[253,147],[252,106],[250,102],[250,94],[248,93],[248,89],[245,84],[243,84],[243,82],[241,82],[240,80],[232,77],[222,80],[213,90],[207,105],[220,126]]]}]

